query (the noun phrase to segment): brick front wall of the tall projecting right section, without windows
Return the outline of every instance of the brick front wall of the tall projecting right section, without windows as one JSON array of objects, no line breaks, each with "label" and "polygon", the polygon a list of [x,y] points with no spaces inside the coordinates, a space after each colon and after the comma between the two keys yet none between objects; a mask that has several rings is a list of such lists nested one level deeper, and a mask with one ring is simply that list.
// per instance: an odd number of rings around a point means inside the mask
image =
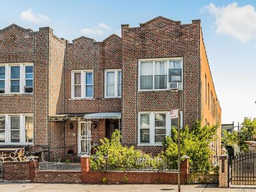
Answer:
[{"label": "brick front wall of the tall projecting right section, without windows", "polygon": [[[157,17],[138,28],[122,25],[123,58],[123,142],[138,143],[139,111],[172,111],[180,108],[184,124],[200,119],[200,22],[180,24]],[[184,59],[182,92],[138,92],[138,60],[143,58]],[[155,150],[156,147],[140,147]]]}]

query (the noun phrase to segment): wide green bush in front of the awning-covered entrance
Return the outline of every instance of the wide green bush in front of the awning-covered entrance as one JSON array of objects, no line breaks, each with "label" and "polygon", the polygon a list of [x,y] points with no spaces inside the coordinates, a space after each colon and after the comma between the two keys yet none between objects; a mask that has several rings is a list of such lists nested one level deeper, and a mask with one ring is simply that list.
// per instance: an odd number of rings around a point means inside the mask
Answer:
[{"label": "wide green bush in front of the awning-covered entrance", "polygon": [[[134,147],[123,146],[120,143],[120,131],[115,130],[111,140],[104,138],[100,140],[101,145],[96,148],[95,156],[90,156],[91,170],[131,170],[147,168],[153,166],[157,168],[157,163],[149,154],[143,154],[141,150]],[[138,161],[147,159],[147,161]],[[138,163],[139,162],[139,163]]]}]

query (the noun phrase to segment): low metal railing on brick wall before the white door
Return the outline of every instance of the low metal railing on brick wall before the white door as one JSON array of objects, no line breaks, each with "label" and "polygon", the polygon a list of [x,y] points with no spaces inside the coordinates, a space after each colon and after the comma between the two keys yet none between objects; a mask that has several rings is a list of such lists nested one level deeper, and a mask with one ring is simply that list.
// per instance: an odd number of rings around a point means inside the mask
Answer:
[{"label": "low metal railing on brick wall before the white door", "polygon": [[81,163],[39,162],[39,170],[81,170]]}]

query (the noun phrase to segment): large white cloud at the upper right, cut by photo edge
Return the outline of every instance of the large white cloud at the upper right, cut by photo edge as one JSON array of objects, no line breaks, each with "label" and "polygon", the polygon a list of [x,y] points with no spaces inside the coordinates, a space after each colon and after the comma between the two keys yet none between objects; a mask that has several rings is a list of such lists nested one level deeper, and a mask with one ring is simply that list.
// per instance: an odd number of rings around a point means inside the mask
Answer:
[{"label": "large white cloud at the upper right, cut by photo edge", "polygon": [[252,5],[237,6],[237,3],[231,3],[216,7],[210,3],[201,11],[205,10],[216,18],[217,34],[230,35],[242,43],[256,40],[256,12]]}]

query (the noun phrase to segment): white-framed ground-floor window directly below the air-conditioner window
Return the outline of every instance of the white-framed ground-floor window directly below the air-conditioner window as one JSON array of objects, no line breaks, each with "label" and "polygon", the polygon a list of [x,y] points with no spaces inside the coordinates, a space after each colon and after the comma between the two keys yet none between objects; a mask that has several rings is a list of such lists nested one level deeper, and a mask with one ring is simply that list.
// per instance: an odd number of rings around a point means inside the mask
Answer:
[{"label": "white-framed ground-floor window directly below the air-conditioner window", "polygon": [[170,112],[140,112],[138,145],[163,145],[171,131]]}]

